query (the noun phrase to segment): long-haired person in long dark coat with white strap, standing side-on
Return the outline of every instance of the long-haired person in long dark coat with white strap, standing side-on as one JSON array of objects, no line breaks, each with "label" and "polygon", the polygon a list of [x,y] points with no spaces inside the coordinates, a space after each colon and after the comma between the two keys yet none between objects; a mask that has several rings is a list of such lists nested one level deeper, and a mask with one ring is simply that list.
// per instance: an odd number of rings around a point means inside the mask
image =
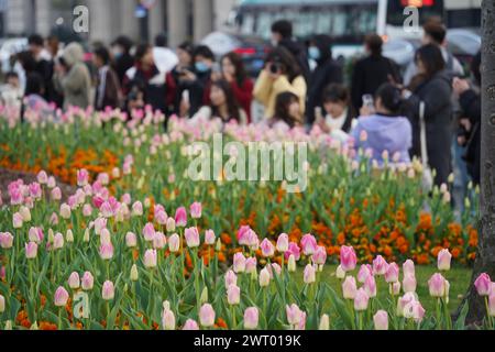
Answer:
[{"label": "long-haired person in long dark coat with white strap, standing side-on", "polygon": [[411,155],[421,157],[419,107],[425,102],[428,162],[437,172],[435,184],[447,184],[452,170],[452,79],[437,45],[421,46],[415,57],[418,75],[409,86],[408,102],[413,124]]}]

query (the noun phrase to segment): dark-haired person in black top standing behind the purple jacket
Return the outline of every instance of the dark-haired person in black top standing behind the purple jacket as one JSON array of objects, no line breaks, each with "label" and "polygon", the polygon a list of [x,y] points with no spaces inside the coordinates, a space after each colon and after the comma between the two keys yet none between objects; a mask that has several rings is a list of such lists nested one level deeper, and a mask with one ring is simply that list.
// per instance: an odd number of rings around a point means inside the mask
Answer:
[{"label": "dark-haired person in black top standing behind the purple jacket", "polygon": [[397,64],[382,55],[383,41],[377,34],[370,34],[365,38],[369,55],[354,65],[351,82],[351,100],[355,111],[363,106],[363,96],[374,96],[380,86],[385,82],[402,81]]}]

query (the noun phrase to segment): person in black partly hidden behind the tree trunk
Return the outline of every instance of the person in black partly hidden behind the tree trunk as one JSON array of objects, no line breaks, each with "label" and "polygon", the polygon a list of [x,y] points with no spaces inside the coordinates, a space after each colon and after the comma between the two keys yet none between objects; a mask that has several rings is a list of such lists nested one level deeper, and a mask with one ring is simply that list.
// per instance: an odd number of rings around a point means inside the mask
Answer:
[{"label": "person in black partly hidden behind the tree trunk", "polygon": [[[472,62],[471,70],[474,81],[481,85],[480,75],[481,54],[479,53]],[[459,97],[463,118],[460,120],[458,142],[465,146],[463,156],[468,164],[468,173],[473,183],[479,185],[481,179],[481,95],[470,88],[465,79],[454,78],[453,90]]]}]

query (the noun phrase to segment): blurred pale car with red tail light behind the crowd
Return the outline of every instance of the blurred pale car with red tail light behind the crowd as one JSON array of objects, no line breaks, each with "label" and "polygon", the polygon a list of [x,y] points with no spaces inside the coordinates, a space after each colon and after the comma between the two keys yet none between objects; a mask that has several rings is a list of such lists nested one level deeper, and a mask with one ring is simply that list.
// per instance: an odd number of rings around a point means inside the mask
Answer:
[{"label": "blurred pale car with red tail light behind the crowd", "polygon": [[256,37],[229,32],[212,32],[208,34],[201,44],[208,45],[217,57],[221,57],[229,52],[241,55],[248,74],[256,77],[263,68],[270,43]]}]

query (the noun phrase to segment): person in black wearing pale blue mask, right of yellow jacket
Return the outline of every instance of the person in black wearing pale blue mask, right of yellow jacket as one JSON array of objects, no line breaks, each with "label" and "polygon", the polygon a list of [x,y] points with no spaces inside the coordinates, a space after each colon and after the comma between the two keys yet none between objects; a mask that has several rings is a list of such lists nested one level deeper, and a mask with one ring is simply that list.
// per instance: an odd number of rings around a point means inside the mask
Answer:
[{"label": "person in black wearing pale blue mask, right of yellow jacket", "polygon": [[315,35],[310,42],[309,57],[317,67],[309,78],[308,102],[306,107],[307,123],[315,122],[315,108],[322,108],[322,91],[330,84],[343,81],[342,67],[332,59],[331,38],[328,35]]}]

